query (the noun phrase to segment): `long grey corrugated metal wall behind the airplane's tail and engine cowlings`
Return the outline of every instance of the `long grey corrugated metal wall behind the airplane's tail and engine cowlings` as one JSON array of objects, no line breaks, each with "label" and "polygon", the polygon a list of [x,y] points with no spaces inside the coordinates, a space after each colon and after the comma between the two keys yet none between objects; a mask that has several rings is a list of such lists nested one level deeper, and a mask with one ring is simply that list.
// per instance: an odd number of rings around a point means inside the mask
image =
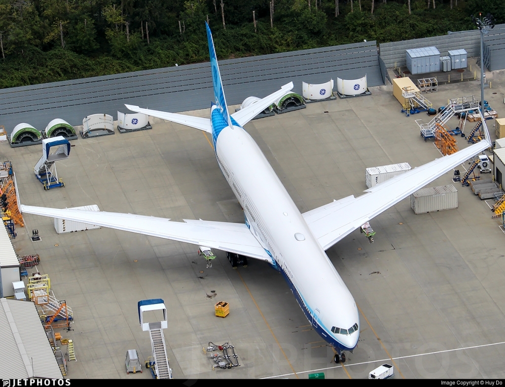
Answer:
[{"label": "long grey corrugated metal wall behind the airplane's tail and engine cowlings", "polygon": [[[322,49],[294,51],[220,61],[228,104],[241,104],[293,81],[324,83],[330,78],[358,79],[367,75],[368,86],[383,85],[375,41]],[[214,99],[208,63],[138,71],[73,81],[0,90],[0,125],[10,133],[27,122],[39,130],[54,118],[82,125],[90,114],[128,113],[124,104],[167,112],[210,107]]]}]

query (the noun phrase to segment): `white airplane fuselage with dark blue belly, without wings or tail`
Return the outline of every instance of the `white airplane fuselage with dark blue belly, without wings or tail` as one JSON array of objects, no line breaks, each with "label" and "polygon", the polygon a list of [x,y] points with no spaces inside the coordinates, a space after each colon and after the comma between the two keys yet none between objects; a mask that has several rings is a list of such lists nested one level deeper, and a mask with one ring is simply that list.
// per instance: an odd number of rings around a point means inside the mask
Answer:
[{"label": "white airplane fuselage with dark blue belly, without wings or tail", "polygon": [[354,349],[360,327],[354,298],[263,152],[235,124],[213,139],[218,164],[244,210],[247,227],[283,274],[314,329],[335,349]]}]

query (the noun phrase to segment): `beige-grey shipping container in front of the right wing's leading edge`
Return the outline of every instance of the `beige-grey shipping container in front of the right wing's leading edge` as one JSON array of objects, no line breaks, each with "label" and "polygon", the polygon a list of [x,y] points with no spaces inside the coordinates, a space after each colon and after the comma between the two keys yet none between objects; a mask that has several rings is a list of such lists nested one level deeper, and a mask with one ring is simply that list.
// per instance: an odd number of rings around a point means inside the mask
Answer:
[{"label": "beige-grey shipping container in front of the right wing's leading edge", "polygon": [[458,208],[458,190],[453,185],[421,188],[411,195],[415,214]]}]

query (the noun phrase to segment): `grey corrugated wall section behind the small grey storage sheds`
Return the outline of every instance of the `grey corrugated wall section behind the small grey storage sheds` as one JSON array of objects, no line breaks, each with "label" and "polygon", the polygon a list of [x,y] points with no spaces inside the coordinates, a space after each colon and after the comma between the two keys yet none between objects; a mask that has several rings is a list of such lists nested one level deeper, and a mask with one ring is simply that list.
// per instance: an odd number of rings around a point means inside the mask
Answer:
[{"label": "grey corrugated wall section behind the small grey storage sheds", "polygon": [[465,49],[469,57],[476,57],[480,55],[479,31],[452,32],[442,36],[380,43],[379,55],[388,68],[394,67],[395,63],[396,66],[406,66],[405,50],[430,46],[437,47],[442,57],[447,56],[449,50],[459,49]]}]

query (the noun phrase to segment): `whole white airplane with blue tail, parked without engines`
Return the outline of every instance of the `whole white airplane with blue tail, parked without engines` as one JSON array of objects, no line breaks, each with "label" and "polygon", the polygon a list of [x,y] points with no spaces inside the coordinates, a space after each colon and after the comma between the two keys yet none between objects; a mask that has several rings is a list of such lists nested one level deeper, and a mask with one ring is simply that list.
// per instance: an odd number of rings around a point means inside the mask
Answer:
[{"label": "whole white airplane with blue tail, parked without engines", "polygon": [[208,246],[266,261],[283,274],[314,329],[334,348],[335,362],[345,361],[344,351],[352,351],[358,344],[360,318],[354,298],[325,250],[419,188],[489,148],[487,128],[484,125],[485,140],[462,151],[391,178],[358,198],[349,196],[301,214],[254,139],[243,129],[291,90],[293,83],[230,115],[208,25],[207,38],[216,101],[211,105],[210,119],[126,107],[211,133],[218,165],[244,210],[245,224],[201,219],[171,222],[151,216],[25,205],[21,206],[22,212]]}]

